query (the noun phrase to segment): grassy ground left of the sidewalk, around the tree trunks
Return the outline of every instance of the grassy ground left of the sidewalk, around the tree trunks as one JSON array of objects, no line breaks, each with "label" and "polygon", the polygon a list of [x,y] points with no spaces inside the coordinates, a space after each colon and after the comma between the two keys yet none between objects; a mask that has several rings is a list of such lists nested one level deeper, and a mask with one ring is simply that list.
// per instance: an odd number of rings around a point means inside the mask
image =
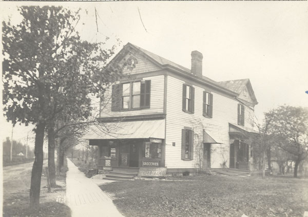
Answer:
[{"label": "grassy ground left of the sidewalk, around the tree trunks", "polygon": [[[3,195],[3,216],[28,216],[28,217],[69,217],[71,211],[64,203],[56,202],[56,199],[64,198],[66,195],[65,180],[66,180],[67,163],[62,168],[60,176],[56,177],[56,188],[52,188],[52,192],[47,192],[46,175],[43,171],[41,180],[41,195],[40,208],[37,210],[29,209],[29,191],[31,180],[31,169],[25,172],[18,173],[18,177],[10,174],[10,182],[4,183]],[[10,171],[8,171],[10,172]],[[13,170],[10,173],[14,173]],[[6,175],[6,174],[4,174]],[[9,174],[7,174],[9,175]],[[16,186],[18,185],[18,187]]]}]

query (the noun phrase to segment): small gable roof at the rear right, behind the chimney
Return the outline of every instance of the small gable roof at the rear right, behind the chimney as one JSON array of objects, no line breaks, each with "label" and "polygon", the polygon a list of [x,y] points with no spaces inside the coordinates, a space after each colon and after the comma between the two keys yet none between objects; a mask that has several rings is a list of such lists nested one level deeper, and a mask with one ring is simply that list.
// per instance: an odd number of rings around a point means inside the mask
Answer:
[{"label": "small gable roof at the rear right, behind the chimney", "polygon": [[220,85],[224,86],[225,88],[232,90],[238,94],[240,94],[245,86],[247,86],[248,92],[251,94],[252,99],[255,104],[258,104],[257,98],[255,96],[255,92],[253,90],[252,84],[249,78],[245,79],[238,79],[238,80],[229,80],[229,81],[220,81],[218,82]]}]

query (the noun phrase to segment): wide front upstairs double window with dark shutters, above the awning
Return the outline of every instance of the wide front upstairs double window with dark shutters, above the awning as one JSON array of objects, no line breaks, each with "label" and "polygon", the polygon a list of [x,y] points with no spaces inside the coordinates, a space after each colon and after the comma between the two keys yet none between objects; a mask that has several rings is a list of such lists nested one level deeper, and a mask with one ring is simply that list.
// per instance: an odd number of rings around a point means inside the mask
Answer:
[{"label": "wide front upstairs double window with dark shutters, above the awning", "polygon": [[149,108],[150,90],[150,80],[113,84],[111,111]]}]

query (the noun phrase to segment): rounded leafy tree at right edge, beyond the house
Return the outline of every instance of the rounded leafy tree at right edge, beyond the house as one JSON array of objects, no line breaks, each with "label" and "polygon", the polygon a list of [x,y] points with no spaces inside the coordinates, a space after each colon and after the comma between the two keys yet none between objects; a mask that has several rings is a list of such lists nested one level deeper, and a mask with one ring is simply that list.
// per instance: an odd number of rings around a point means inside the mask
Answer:
[{"label": "rounded leafy tree at right edge, beyond the house", "polygon": [[276,144],[294,156],[294,177],[297,177],[298,165],[306,159],[308,151],[308,108],[279,106],[268,113],[273,117],[269,132],[276,137]]}]

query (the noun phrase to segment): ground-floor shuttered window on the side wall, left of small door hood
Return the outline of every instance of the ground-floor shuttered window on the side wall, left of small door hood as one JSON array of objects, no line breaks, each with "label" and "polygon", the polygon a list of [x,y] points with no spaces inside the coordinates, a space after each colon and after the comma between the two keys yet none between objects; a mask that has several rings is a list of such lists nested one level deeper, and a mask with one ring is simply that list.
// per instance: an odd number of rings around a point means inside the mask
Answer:
[{"label": "ground-floor shuttered window on the side wall, left of small door hood", "polygon": [[194,131],[182,129],[182,160],[194,159]]}]

